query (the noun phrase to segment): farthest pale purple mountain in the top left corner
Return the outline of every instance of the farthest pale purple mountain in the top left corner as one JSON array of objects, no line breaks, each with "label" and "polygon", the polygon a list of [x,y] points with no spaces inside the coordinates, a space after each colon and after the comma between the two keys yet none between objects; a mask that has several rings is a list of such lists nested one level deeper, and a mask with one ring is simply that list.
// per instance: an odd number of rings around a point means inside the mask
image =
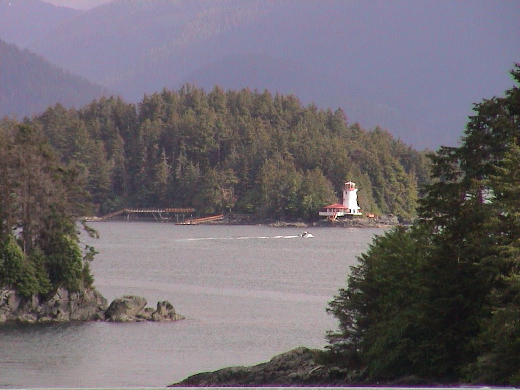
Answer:
[{"label": "farthest pale purple mountain in the top left corner", "polygon": [[25,47],[80,14],[40,0],[0,0],[0,39]]}]

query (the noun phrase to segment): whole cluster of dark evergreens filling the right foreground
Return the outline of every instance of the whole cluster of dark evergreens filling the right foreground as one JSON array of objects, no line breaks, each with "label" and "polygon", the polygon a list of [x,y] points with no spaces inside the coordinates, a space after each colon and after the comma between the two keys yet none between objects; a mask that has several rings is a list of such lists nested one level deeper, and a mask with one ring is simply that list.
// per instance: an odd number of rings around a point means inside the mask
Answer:
[{"label": "whole cluster of dark evergreens filling the right foreground", "polygon": [[520,89],[476,105],[432,170],[417,222],[376,238],[330,303],[329,358],[369,383],[518,386]]}]

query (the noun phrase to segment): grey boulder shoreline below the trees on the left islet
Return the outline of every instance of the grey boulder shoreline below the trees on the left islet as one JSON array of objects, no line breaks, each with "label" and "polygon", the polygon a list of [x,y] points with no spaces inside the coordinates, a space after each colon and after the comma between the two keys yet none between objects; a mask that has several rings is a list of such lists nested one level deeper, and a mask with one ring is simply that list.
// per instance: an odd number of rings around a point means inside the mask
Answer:
[{"label": "grey boulder shoreline below the trees on the left islet", "polygon": [[146,307],[145,298],[125,295],[110,305],[95,289],[69,292],[64,288],[48,297],[33,294],[24,297],[15,290],[0,289],[0,324],[6,322],[45,323],[70,321],[178,321],[170,302],[158,302],[157,308]]}]

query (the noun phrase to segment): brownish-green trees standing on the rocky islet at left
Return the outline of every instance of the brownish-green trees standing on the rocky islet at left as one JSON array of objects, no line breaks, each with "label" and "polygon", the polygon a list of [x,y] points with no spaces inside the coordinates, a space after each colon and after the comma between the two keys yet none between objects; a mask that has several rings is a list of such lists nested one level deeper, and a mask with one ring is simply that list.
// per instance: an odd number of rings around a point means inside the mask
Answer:
[{"label": "brownish-green trees standing on the rocky islet at left", "polygon": [[75,225],[87,201],[77,177],[60,164],[41,131],[2,122],[0,288],[30,296],[92,285],[88,261],[95,251],[80,249]]}]

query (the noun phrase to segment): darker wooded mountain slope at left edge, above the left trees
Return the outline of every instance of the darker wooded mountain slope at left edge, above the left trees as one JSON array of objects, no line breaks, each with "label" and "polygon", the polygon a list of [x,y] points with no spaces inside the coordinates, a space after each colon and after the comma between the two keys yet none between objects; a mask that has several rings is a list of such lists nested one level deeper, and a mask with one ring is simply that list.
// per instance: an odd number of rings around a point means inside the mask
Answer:
[{"label": "darker wooded mountain slope at left edge, above the left trees", "polygon": [[0,117],[31,116],[57,102],[81,107],[107,94],[80,76],[51,66],[43,58],[0,40]]}]

